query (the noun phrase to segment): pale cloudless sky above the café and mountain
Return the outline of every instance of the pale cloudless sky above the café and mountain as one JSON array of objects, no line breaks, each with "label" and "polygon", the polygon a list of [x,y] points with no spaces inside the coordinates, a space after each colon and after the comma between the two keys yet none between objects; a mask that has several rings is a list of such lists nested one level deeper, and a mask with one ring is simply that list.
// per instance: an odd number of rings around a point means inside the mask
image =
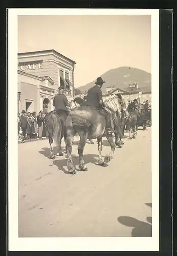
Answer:
[{"label": "pale cloudless sky above the caf\u00e9 and mountain", "polygon": [[19,15],[18,52],[50,49],[76,61],[76,88],[118,67],[151,73],[150,15]]}]

